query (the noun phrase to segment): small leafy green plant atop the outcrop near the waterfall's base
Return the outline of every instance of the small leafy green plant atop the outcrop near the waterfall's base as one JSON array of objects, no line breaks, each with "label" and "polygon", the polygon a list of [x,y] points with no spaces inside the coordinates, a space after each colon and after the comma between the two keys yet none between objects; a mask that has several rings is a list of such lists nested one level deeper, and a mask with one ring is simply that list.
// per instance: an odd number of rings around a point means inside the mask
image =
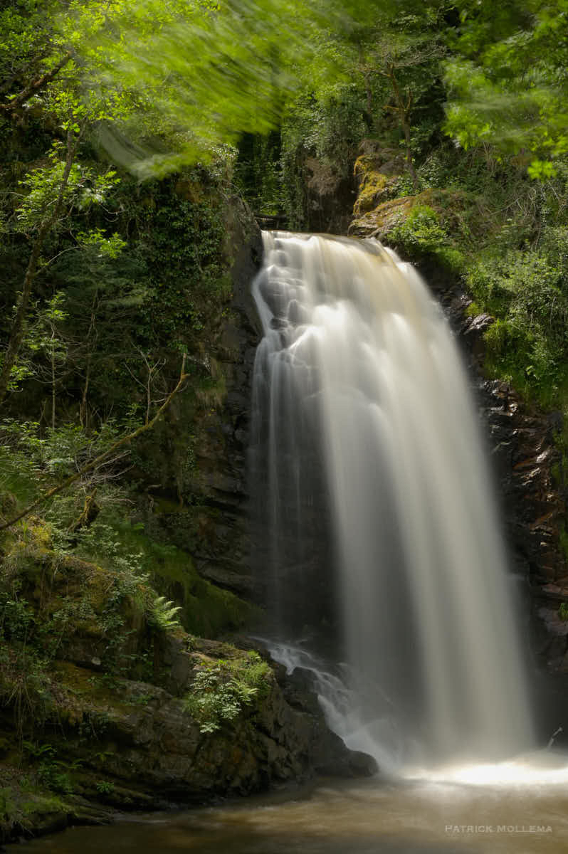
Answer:
[{"label": "small leafy green plant atop the outcrop near the waterfall's base", "polygon": [[202,733],[214,733],[266,693],[268,671],[268,664],[256,652],[247,658],[220,659],[197,672],[184,698],[185,708]]}]

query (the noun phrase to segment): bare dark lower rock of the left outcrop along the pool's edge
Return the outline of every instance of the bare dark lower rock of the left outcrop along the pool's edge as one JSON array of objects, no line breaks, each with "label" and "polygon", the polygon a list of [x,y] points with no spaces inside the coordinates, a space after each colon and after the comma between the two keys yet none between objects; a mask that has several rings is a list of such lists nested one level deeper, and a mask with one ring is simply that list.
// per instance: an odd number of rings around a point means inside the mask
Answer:
[{"label": "bare dark lower rock of the left outcrop along the pool's edge", "polygon": [[[179,670],[179,663],[172,664]],[[195,663],[184,666],[187,690]],[[106,687],[92,670],[65,662],[56,663],[51,676],[59,721],[42,745],[53,748],[57,773],[73,769],[70,791],[54,798],[42,787],[45,777],[3,763],[0,781],[9,786],[12,818],[0,818],[0,842],[69,823],[107,822],[116,810],[205,804],[315,774],[368,776],[377,770],[371,757],[349,751],[331,733],[315,696],[289,683],[278,665],[269,671],[266,696],[213,734],[201,731],[179,694],[150,682],[121,679],[120,686]]]}]

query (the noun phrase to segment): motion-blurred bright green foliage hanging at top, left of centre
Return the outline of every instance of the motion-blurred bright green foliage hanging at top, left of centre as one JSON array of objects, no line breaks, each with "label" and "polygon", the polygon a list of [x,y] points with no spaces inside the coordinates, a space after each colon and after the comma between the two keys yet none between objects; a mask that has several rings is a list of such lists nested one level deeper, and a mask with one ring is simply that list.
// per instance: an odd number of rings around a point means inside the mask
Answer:
[{"label": "motion-blurred bright green foliage hanging at top, left of centre", "polygon": [[[135,91],[146,127],[159,127],[171,147],[164,151],[145,142],[133,117],[120,128],[122,138],[107,135],[107,148],[114,159],[148,175],[214,159],[243,132],[269,132],[303,69],[317,68],[330,81],[345,73],[341,54],[319,50],[325,33],[348,32],[377,7],[291,0],[283,15],[276,0],[230,0],[214,11],[201,3],[165,6],[157,0],[110,4],[105,32],[87,40],[84,51],[107,57],[105,85]],[[138,150],[124,143],[125,135],[137,138]]]}]

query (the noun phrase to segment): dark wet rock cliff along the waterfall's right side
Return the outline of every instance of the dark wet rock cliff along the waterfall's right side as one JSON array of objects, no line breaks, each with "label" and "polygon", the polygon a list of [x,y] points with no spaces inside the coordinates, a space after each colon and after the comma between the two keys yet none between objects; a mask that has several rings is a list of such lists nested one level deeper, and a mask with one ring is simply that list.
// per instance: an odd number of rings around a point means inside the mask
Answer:
[{"label": "dark wet rock cliff along the waterfall's right side", "polygon": [[559,412],[539,412],[521,400],[509,383],[483,376],[483,334],[493,323],[487,314],[470,316],[471,299],[439,269],[423,265],[438,296],[477,390],[492,471],[512,568],[530,611],[530,649],[550,673],[568,672],[568,628],[559,619],[568,568],[562,547],[565,499],[557,477],[561,454],[554,435]]}]

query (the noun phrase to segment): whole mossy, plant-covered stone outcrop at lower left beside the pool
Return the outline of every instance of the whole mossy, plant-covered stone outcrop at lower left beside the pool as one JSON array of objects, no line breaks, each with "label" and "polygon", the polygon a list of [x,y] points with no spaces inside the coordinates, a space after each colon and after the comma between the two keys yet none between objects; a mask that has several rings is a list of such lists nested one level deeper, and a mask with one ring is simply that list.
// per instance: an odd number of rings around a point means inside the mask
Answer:
[{"label": "whole mossy, plant-covered stone outcrop at lower left beside the pool", "polygon": [[[290,680],[266,655],[263,662],[249,641],[238,648],[160,626],[143,579],[61,558],[33,524],[33,539],[18,550],[26,642],[19,623],[4,627],[0,781],[10,804],[0,841],[106,821],[114,810],[202,804],[315,774],[377,770],[331,733],[301,678]],[[200,674],[213,675],[205,688]],[[227,699],[223,686],[233,682],[237,693]],[[214,705],[201,713],[191,699],[203,692]],[[237,708],[225,714],[227,702]]]}]

